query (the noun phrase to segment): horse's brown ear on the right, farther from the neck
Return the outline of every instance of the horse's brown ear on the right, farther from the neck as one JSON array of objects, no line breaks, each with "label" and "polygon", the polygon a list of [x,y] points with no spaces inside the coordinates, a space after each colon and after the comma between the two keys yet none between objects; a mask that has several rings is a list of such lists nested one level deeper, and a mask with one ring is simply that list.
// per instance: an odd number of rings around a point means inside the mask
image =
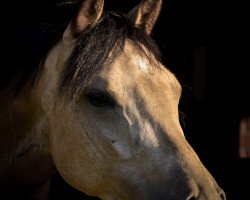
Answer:
[{"label": "horse's brown ear on the right, farther from the neck", "polygon": [[142,0],[127,16],[135,23],[135,26],[150,34],[160,14],[161,7],[162,0]]}]

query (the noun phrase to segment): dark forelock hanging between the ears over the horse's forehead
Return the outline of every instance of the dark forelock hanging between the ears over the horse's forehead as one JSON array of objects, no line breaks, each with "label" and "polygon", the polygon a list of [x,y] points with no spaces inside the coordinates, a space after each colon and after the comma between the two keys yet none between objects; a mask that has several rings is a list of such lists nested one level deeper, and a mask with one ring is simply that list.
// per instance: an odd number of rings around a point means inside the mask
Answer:
[{"label": "dark forelock hanging between the ears over the horse's forehead", "polygon": [[121,53],[125,40],[139,52],[147,55],[146,48],[160,60],[155,42],[144,31],[136,28],[123,14],[106,13],[100,22],[88,27],[79,37],[61,74],[59,96],[77,98],[93,77]]}]

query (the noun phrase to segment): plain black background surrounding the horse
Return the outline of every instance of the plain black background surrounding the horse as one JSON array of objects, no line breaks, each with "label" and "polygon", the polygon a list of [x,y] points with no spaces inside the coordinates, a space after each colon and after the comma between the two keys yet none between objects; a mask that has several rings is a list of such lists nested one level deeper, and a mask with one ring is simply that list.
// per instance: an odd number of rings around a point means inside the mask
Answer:
[{"label": "plain black background surrounding the horse", "polygon": [[[74,4],[64,0],[2,4],[1,81],[64,23]],[[72,2],[77,2],[72,1]],[[128,12],[138,0],[106,0],[105,10]],[[250,199],[250,160],[239,158],[239,121],[250,115],[247,6],[240,1],[165,0],[152,37],[183,87],[187,140],[229,200]],[[28,52],[28,53],[27,53]],[[28,56],[29,57],[29,56]],[[88,199],[56,174],[50,199]]]}]

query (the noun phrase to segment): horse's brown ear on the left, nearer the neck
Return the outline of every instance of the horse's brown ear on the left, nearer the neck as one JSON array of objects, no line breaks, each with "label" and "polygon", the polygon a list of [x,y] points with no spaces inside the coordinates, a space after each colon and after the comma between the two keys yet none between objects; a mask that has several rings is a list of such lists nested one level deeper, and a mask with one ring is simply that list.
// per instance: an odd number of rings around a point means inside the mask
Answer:
[{"label": "horse's brown ear on the left, nearer the neck", "polygon": [[73,21],[66,28],[63,38],[74,38],[86,27],[96,23],[103,12],[104,0],[83,0]]}]

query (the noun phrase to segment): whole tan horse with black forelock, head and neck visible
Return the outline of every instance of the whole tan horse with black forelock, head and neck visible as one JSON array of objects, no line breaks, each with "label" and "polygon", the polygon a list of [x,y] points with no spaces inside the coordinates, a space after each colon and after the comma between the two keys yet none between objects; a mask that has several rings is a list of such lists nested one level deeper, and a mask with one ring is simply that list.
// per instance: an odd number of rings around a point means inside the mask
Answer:
[{"label": "whole tan horse with black forelock, head and neck visible", "polygon": [[161,7],[83,1],[18,91],[1,89],[2,194],[47,199],[58,171],[103,200],[226,199],[181,128],[181,85],[150,36]]}]

